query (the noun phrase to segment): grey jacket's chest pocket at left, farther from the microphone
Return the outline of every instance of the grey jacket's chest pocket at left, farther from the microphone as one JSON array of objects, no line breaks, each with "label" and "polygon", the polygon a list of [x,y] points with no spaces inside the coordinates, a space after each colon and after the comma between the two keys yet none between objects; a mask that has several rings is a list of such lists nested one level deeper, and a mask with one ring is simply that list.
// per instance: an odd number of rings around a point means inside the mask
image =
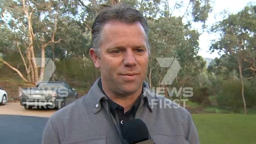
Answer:
[{"label": "grey jacket's chest pocket at left, farther from the microphone", "polygon": [[106,137],[92,137],[80,140],[71,140],[64,144],[106,144]]}]

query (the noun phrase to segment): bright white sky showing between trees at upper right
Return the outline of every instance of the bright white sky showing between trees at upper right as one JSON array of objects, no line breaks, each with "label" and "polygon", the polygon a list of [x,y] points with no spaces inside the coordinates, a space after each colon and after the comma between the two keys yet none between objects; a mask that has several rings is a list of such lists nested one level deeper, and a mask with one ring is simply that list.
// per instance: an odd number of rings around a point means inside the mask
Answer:
[{"label": "bright white sky showing between trees at upper right", "polygon": [[[170,2],[170,4],[172,4],[173,2],[175,3],[175,0],[170,0]],[[185,2],[187,2],[188,4],[189,0],[184,0],[184,3]],[[221,15],[221,13],[223,13],[224,10],[226,10],[228,13],[236,14],[249,3],[256,4],[256,0],[211,0],[211,6],[213,8],[211,13],[209,13],[208,15],[206,25],[210,28],[216,22],[223,20],[223,15]],[[226,13],[226,15],[228,13]],[[192,28],[198,30],[199,33],[201,33],[199,37],[200,51],[198,55],[201,55],[204,58],[209,57],[211,59],[214,59],[215,57],[220,57],[217,52],[214,52],[212,54],[209,52],[211,40],[218,39],[218,35],[213,33],[209,34],[207,31],[202,31],[201,24],[199,23],[193,23]]]}]

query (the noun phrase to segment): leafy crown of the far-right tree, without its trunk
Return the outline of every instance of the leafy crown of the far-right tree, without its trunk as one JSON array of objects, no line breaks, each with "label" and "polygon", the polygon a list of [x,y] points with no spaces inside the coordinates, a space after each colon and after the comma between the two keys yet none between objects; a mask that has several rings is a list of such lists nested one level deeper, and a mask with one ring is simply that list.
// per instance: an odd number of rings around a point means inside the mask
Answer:
[{"label": "leafy crown of the far-right tree, without its trunk", "polygon": [[228,69],[226,72],[234,69],[238,71],[237,60],[241,59],[244,69],[242,75],[247,78],[256,77],[256,13],[254,7],[246,6],[239,13],[229,15],[228,18],[211,28],[211,31],[219,33],[220,38],[213,41],[210,50],[225,53],[219,61],[216,59],[217,65],[222,63],[221,66]]}]

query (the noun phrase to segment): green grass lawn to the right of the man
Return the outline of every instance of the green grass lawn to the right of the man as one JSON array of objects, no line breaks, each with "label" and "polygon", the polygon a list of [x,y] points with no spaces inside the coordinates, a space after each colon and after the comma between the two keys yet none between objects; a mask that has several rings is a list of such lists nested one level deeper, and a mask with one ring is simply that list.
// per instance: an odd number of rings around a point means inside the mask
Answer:
[{"label": "green grass lawn to the right of the man", "polygon": [[256,144],[256,114],[192,114],[201,144]]}]

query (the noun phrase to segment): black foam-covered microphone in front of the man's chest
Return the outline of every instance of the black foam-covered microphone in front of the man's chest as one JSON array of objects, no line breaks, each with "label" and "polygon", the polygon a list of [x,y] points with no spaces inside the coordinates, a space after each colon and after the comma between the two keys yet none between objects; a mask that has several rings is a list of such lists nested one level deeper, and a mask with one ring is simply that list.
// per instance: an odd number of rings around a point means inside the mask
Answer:
[{"label": "black foam-covered microphone in front of the man's chest", "polygon": [[122,135],[128,144],[154,144],[153,140],[149,139],[148,128],[141,119],[125,122]]}]

